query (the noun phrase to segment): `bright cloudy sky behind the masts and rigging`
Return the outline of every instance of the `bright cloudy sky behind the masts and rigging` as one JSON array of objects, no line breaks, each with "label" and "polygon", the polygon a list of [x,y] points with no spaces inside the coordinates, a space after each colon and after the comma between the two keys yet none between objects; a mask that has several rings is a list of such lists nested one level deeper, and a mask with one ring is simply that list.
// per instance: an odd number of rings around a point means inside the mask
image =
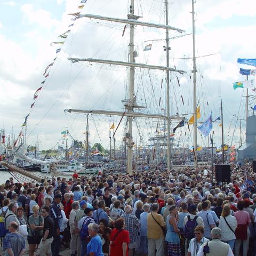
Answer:
[{"label": "bright cloudy sky behind the masts and rigging", "polygon": [[[123,110],[121,100],[126,98],[127,72],[125,68],[89,63],[71,63],[68,57],[97,58],[127,61],[129,27],[123,25],[82,18],[71,21],[67,15],[78,11],[81,1],[76,0],[0,0],[0,127],[14,134],[21,130],[25,116],[30,111],[33,95],[44,81],[44,70],[56,57],[58,45],[51,42],[62,41],[59,35],[71,32],[58,53],[58,58],[50,70],[35,107],[28,118],[28,144],[35,140],[41,143],[41,149],[53,148],[61,139],[61,131],[68,127],[70,134],[83,140],[86,129],[86,116],[64,113],[66,108]],[[250,7],[248,7],[250,6]],[[165,23],[164,1],[135,0],[135,14],[143,16],[141,21]],[[196,55],[197,59],[197,99],[201,106],[201,119],[204,122],[212,111],[212,118],[220,116],[220,97],[223,101],[225,121],[225,141],[229,145],[237,141],[239,127],[235,130],[236,117],[244,119],[245,92],[233,90],[232,83],[243,81],[239,74],[237,58],[255,58],[255,9],[256,2],[247,0],[207,0],[196,1]],[[125,18],[129,10],[127,0],[87,0],[81,14],[92,13],[108,17]],[[191,1],[169,1],[169,23],[173,27],[186,30],[190,34]],[[150,41],[165,37],[161,29],[137,27],[135,32],[135,50],[137,62],[151,65],[165,65],[164,41]],[[170,31],[170,37],[178,36]],[[145,42],[149,41],[149,42]],[[151,51],[143,48],[153,43]],[[171,66],[186,70],[185,75],[171,74],[171,114],[193,112],[193,83],[191,69],[193,63],[192,37],[184,36],[172,39]],[[60,45],[61,46],[61,45]],[[216,53],[216,54],[215,54]],[[185,58],[185,59],[180,59]],[[247,68],[243,66],[243,68]],[[250,68],[250,67],[248,67]],[[179,78],[180,86],[177,82]],[[164,114],[164,86],[162,71],[136,70],[135,93],[138,103],[145,113]],[[164,83],[163,83],[164,84]],[[250,92],[253,95],[253,92]],[[182,103],[181,96],[184,104]],[[161,98],[161,100],[160,100]],[[253,97],[251,106],[254,106]],[[159,103],[160,102],[160,103]],[[186,116],[187,118],[190,115]],[[109,122],[119,122],[120,117],[90,116],[90,142],[102,142],[109,147]],[[148,145],[147,139],[156,135],[157,121],[138,120],[134,123],[135,143]],[[172,126],[177,125],[173,122]],[[245,127],[242,121],[243,128]],[[140,127],[140,132],[137,131]],[[191,127],[190,127],[191,129]],[[125,122],[120,125],[116,138],[118,145],[125,130]],[[215,145],[220,143],[219,123],[213,126]],[[235,132],[237,131],[237,132]],[[185,135],[186,133],[186,135]],[[193,145],[193,137],[187,127],[177,130],[175,137],[180,146]],[[234,137],[234,138],[233,138]],[[233,138],[233,140],[232,140]],[[176,143],[178,143],[176,142]],[[207,139],[198,132],[198,145],[206,145]]]}]

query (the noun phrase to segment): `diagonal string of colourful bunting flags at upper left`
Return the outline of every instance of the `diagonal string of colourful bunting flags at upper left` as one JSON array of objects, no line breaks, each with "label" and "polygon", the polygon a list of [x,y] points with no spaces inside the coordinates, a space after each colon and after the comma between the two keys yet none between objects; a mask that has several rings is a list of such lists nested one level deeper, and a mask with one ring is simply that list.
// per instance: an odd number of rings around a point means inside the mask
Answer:
[{"label": "diagonal string of colourful bunting flags at upper left", "polygon": [[[83,9],[84,4],[85,4],[86,2],[87,2],[87,0],[81,1],[80,4],[83,4],[83,5],[79,5],[79,6],[78,6],[78,9]],[[77,13],[75,13],[75,14],[80,14],[80,12],[77,12]],[[68,15],[74,15],[74,14],[68,14]],[[75,21],[76,19],[77,19],[77,18],[72,18],[71,21]],[[71,23],[68,27],[70,28],[70,27],[73,27],[73,26],[74,26],[74,23]],[[65,33],[59,35],[58,38],[66,39],[66,38],[68,37],[70,31],[71,31],[71,29],[68,29]],[[52,45],[59,45],[59,44],[60,44],[60,45],[63,45],[64,43],[65,43],[65,41],[52,42],[50,45],[51,45],[51,46],[52,46]],[[60,51],[61,51],[61,48],[57,49],[57,50],[56,50],[56,54],[58,54]],[[46,78],[49,77],[51,68],[53,67],[54,62],[55,62],[55,60],[57,59],[57,57],[58,57],[58,55],[53,59],[53,62],[51,62],[51,63],[45,68],[45,71],[44,71],[44,73],[43,73],[43,76],[45,77],[45,79],[44,79],[43,82],[41,82],[42,85],[41,85],[41,86],[35,91],[35,93],[34,93],[34,97],[33,97],[34,102],[30,105],[29,113],[28,113],[28,115],[25,117],[25,121],[24,121],[23,124],[21,125],[22,128],[21,128],[21,131],[20,131],[20,133],[19,133],[19,135],[18,135],[17,140],[15,140],[15,142],[14,142],[14,145],[13,145],[14,147],[18,145],[18,142],[20,142],[21,137],[23,136],[23,127],[25,127],[25,126],[27,125],[27,119],[28,119],[28,117],[29,117],[29,115],[30,115],[32,109],[33,109],[34,106],[35,106],[36,100],[38,100],[39,93],[40,93],[40,91],[42,90],[43,85],[44,85],[45,82],[46,82]],[[71,136],[70,136],[70,137],[71,137]],[[71,138],[73,138],[73,137],[71,137]],[[74,139],[74,138],[73,138],[73,139]]]}]

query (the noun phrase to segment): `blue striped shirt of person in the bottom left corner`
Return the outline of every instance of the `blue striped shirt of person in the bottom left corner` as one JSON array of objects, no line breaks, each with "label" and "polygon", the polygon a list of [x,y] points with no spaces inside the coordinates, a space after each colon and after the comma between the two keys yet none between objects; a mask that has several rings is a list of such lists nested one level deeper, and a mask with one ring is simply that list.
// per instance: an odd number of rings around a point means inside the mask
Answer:
[{"label": "blue striped shirt of person in the bottom left corner", "polygon": [[19,233],[7,234],[4,238],[4,249],[11,248],[14,256],[18,256],[21,250],[26,249],[25,238]]}]

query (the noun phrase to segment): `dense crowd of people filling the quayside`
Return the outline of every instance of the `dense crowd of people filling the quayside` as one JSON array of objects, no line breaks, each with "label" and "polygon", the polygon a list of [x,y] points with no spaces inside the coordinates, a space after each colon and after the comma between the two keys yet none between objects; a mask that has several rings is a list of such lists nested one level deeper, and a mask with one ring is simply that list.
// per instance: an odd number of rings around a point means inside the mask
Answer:
[{"label": "dense crowd of people filling the quayside", "polygon": [[255,255],[256,174],[231,166],[226,184],[204,169],[10,178],[0,186],[5,255]]}]

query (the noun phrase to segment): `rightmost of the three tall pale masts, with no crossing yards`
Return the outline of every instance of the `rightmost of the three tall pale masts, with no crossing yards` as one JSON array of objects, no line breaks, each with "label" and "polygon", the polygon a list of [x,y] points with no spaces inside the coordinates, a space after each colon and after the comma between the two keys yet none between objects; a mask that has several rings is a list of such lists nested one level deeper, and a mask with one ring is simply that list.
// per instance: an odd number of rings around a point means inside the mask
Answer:
[{"label": "rightmost of the three tall pale masts, with no crossing yards", "polygon": [[195,167],[197,167],[197,116],[196,116],[196,38],[195,38],[195,6],[192,0],[192,19],[193,19],[193,85],[194,85],[194,154]]}]

